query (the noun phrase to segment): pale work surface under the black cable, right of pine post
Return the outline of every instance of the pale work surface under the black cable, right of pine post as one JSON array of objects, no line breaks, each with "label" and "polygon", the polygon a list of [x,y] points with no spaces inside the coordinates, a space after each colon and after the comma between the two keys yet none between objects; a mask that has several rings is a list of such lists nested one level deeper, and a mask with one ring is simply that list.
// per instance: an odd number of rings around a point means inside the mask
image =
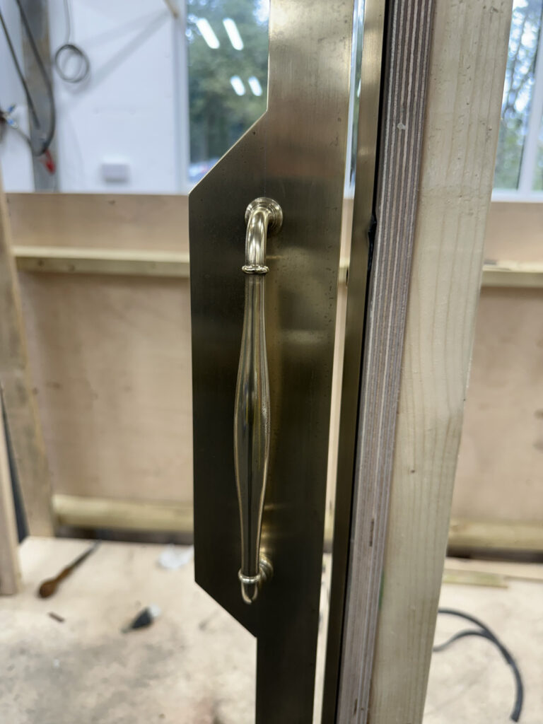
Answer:
[{"label": "pale work surface under the black cable, right of pine post", "polygon": [[[539,567],[541,568],[541,567]],[[479,618],[515,658],[524,683],[522,724],[543,722],[543,581],[508,581],[508,588],[442,586],[439,605]],[[472,628],[439,615],[435,642]],[[470,636],[432,657],[424,724],[500,724],[515,699],[513,673],[489,641]]]}]

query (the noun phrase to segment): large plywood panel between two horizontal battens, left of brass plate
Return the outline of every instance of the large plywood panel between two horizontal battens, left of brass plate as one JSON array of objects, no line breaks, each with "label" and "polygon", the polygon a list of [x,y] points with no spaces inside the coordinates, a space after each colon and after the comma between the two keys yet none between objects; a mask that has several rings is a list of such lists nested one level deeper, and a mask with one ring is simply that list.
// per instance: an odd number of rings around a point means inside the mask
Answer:
[{"label": "large plywood panel between two horizontal battens, left of brass plate", "polygon": [[190,503],[188,280],[20,279],[54,492]]}]

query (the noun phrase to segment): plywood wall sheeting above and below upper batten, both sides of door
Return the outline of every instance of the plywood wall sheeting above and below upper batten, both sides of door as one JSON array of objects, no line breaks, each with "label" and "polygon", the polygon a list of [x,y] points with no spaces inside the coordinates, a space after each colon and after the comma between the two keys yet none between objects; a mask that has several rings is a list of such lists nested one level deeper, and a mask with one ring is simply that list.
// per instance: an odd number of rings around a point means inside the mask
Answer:
[{"label": "plywood wall sheeting above and below upper batten, both sides of door", "polygon": [[[16,245],[188,250],[183,197],[9,205]],[[542,209],[510,206],[492,205],[487,258],[543,261]],[[20,282],[54,492],[190,503],[188,280]],[[452,515],[543,521],[543,289],[482,291]]]}]

